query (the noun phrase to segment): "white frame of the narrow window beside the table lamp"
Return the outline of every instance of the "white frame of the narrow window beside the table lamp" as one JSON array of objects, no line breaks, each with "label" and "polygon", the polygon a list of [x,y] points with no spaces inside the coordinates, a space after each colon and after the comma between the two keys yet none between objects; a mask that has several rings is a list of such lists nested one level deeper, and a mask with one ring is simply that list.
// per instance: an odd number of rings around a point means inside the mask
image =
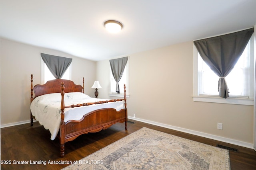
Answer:
[{"label": "white frame of the narrow window beside the table lamp", "polygon": [[[124,56],[124,57],[127,57],[127,56]],[[122,58],[122,57],[117,57],[117,58],[114,58],[114,59],[118,59],[118,58]],[[130,94],[129,94],[129,56],[128,56],[128,60],[127,60],[127,63],[126,63],[126,98],[129,98],[130,97]],[[109,96],[112,96],[112,97],[124,97],[124,91],[121,91],[120,90],[120,94],[117,94],[117,93],[113,93],[113,92],[111,92],[111,86],[116,86],[116,82],[113,82],[113,81],[111,81],[112,80],[112,77],[113,77],[113,75],[112,75],[112,71],[111,71],[111,68],[110,68],[110,66],[109,66],[109,71],[110,71],[110,73],[109,73],[109,82],[110,82],[110,84],[109,84]],[[114,85],[113,85],[114,84]],[[120,85],[119,84],[119,87],[123,87],[123,84],[122,85]]]}]

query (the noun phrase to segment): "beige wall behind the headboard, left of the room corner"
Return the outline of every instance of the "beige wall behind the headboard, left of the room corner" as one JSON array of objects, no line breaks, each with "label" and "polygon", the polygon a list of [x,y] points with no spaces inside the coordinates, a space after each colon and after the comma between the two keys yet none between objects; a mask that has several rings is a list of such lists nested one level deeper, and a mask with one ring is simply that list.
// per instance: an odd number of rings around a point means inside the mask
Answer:
[{"label": "beige wall behind the headboard, left of the room corner", "polygon": [[40,53],[72,58],[72,80],[82,84],[84,77],[86,94],[94,96],[90,87],[96,77],[96,62],[3,38],[0,41],[1,125],[30,120],[30,75],[34,75],[34,85],[41,83]]}]

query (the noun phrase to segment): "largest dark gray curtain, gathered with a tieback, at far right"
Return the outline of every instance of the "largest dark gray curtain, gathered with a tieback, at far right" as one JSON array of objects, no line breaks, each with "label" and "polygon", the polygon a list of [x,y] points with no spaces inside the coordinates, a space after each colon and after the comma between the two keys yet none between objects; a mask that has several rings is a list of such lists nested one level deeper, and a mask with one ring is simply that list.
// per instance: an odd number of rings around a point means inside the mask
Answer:
[{"label": "largest dark gray curtain, gathered with a tieback, at far right", "polygon": [[219,96],[229,97],[225,77],[231,72],[242,55],[254,28],[194,41],[198,53],[208,66],[220,77]]}]

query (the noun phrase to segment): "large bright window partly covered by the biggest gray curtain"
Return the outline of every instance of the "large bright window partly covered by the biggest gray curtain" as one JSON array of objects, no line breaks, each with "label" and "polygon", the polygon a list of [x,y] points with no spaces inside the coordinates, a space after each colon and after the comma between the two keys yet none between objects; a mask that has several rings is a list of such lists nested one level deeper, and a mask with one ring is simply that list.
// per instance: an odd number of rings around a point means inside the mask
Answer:
[{"label": "large bright window partly covered by the biggest gray curtain", "polygon": [[194,47],[194,101],[253,105],[254,42],[252,38],[225,79],[230,96],[227,99],[218,96],[219,77],[202,60]]}]

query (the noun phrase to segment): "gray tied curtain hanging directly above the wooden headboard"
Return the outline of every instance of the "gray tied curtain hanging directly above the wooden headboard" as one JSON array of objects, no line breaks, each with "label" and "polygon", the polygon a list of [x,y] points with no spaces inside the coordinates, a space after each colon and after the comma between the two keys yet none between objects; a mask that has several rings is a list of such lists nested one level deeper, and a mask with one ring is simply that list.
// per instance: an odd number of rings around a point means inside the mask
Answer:
[{"label": "gray tied curtain hanging directly above the wooden headboard", "polygon": [[41,57],[55,78],[62,78],[72,59],[41,53]]}]

